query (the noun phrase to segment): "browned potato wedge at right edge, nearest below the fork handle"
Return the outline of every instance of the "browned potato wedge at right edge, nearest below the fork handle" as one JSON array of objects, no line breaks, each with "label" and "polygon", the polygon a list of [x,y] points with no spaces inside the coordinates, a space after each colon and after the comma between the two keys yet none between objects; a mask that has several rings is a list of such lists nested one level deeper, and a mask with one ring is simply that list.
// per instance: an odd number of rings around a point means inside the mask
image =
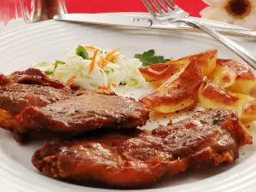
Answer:
[{"label": "browned potato wedge at right edge, nearest below the fork handle", "polygon": [[256,87],[255,76],[249,67],[235,60],[218,59],[212,81],[223,88],[246,95],[251,95]]}]

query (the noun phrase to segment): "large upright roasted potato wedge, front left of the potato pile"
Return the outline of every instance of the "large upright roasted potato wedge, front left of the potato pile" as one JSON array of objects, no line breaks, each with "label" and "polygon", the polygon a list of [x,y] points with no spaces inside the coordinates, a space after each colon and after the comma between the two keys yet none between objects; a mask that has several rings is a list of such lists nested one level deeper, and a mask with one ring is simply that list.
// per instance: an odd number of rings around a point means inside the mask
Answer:
[{"label": "large upright roasted potato wedge, front left of the potato pile", "polygon": [[143,96],[140,102],[160,113],[172,113],[188,108],[197,101],[201,81],[201,70],[197,67],[197,59],[194,57],[187,67],[175,73],[154,92]]}]

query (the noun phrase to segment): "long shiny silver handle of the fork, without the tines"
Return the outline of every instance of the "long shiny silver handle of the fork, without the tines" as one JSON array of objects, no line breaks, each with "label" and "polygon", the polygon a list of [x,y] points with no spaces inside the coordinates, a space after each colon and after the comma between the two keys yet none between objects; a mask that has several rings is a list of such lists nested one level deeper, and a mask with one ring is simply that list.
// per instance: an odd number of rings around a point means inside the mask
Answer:
[{"label": "long shiny silver handle of the fork, without the tines", "polygon": [[204,32],[207,32],[208,35],[218,40],[218,42],[220,42],[221,44],[224,44],[224,46],[232,50],[234,53],[236,53],[236,55],[239,55],[243,61],[246,61],[247,64],[249,64],[251,67],[253,67],[253,69],[256,70],[256,56],[247,49],[241,47],[239,44],[236,44],[229,38],[225,38],[223,35],[215,32],[211,27],[205,26],[199,21],[189,20],[188,18],[176,21],[186,23],[189,26],[193,26],[195,28],[203,30]]}]

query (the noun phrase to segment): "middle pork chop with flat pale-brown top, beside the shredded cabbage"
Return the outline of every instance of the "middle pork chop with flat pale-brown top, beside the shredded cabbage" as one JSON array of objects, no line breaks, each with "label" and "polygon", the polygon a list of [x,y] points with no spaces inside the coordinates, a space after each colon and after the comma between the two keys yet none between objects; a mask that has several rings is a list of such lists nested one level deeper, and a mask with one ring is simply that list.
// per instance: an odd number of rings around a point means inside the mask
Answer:
[{"label": "middle pork chop with flat pale-brown top, beside the shredded cabbage", "polygon": [[99,128],[136,128],[148,120],[148,108],[131,98],[96,90],[83,90],[76,95],[44,108],[26,108],[17,118],[16,134],[22,137],[30,130],[49,129],[77,135]]}]

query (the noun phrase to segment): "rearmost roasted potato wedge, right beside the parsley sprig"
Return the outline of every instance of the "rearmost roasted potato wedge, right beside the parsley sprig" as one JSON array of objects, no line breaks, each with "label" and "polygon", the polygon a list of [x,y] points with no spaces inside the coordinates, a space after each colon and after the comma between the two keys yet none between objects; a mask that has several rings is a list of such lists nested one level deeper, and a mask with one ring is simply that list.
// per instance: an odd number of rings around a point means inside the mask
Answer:
[{"label": "rearmost roasted potato wedge, right beside the parsley sprig", "polygon": [[148,67],[139,68],[146,81],[160,85],[171,78],[173,74],[180,72],[184,67],[189,65],[189,62],[197,58],[198,67],[201,69],[202,76],[209,76],[216,67],[217,49],[209,49],[196,55],[189,55],[176,61],[168,61],[166,63],[157,63]]}]

